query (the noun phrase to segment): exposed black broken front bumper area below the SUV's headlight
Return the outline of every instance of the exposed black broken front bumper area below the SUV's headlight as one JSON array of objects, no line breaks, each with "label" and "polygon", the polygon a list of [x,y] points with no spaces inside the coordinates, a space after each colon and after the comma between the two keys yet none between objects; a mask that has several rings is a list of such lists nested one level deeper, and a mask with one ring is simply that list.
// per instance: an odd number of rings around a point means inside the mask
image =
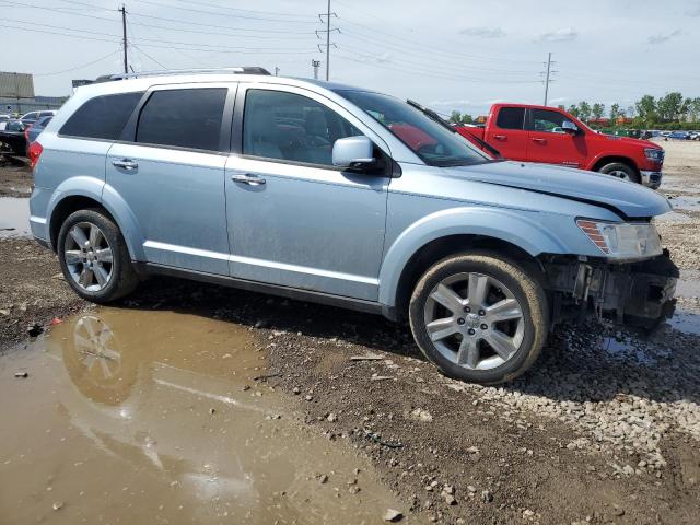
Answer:
[{"label": "exposed black broken front bumper area below the SUV's headlight", "polygon": [[551,258],[544,267],[553,324],[594,315],[651,329],[674,313],[679,272],[668,250],[641,262]]}]

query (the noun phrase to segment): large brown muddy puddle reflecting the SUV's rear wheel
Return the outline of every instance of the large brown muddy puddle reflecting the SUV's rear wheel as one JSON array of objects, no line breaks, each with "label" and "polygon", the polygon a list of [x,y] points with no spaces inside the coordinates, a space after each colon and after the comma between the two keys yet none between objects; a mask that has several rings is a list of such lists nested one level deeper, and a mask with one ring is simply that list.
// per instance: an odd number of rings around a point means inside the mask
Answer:
[{"label": "large brown muddy puddle reflecting the SUV's rear wheel", "polygon": [[273,378],[255,381],[257,350],[231,323],[113,308],[11,349],[0,522],[370,524],[400,510],[345,440],[312,433]]}]

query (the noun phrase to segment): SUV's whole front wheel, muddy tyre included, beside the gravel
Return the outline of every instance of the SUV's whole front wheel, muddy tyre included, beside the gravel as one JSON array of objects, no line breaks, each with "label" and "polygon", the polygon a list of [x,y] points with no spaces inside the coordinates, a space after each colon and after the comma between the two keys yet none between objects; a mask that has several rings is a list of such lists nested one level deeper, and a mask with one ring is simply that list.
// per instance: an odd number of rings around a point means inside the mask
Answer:
[{"label": "SUV's whole front wheel, muddy tyre included, beside the gravel", "polygon": [[474,383],[517,377],[547,339],[539,281],[492,253],[448,257],[420,279],[409,305],[413,338],[446,375]]}]

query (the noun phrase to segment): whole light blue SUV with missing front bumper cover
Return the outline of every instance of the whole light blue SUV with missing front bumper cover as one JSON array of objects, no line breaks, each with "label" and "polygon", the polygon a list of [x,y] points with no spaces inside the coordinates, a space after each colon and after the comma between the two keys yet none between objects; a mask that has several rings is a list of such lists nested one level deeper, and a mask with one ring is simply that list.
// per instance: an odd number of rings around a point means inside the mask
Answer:
[{"label": "whole light blue SUV with missing front bumper cover", "polygon": [[408,318],[453,377],[508,381],[565,319],[651,326],[665,198],[494,160],[415,103],[259,68],[80,88],[30,151],[34,236],[80,296],[166,273]]}]

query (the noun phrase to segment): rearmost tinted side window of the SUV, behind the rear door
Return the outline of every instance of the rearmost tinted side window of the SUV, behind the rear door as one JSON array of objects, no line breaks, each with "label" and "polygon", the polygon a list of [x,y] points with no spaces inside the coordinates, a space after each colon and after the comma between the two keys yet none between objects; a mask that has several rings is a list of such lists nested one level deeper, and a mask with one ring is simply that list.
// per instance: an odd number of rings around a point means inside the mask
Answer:
[{"label": "rearmost tinted side window of the SUV, behind the rear door", "polygon": [[91,98],[66,121],[59,135],[117,140],[143,92]]}]

